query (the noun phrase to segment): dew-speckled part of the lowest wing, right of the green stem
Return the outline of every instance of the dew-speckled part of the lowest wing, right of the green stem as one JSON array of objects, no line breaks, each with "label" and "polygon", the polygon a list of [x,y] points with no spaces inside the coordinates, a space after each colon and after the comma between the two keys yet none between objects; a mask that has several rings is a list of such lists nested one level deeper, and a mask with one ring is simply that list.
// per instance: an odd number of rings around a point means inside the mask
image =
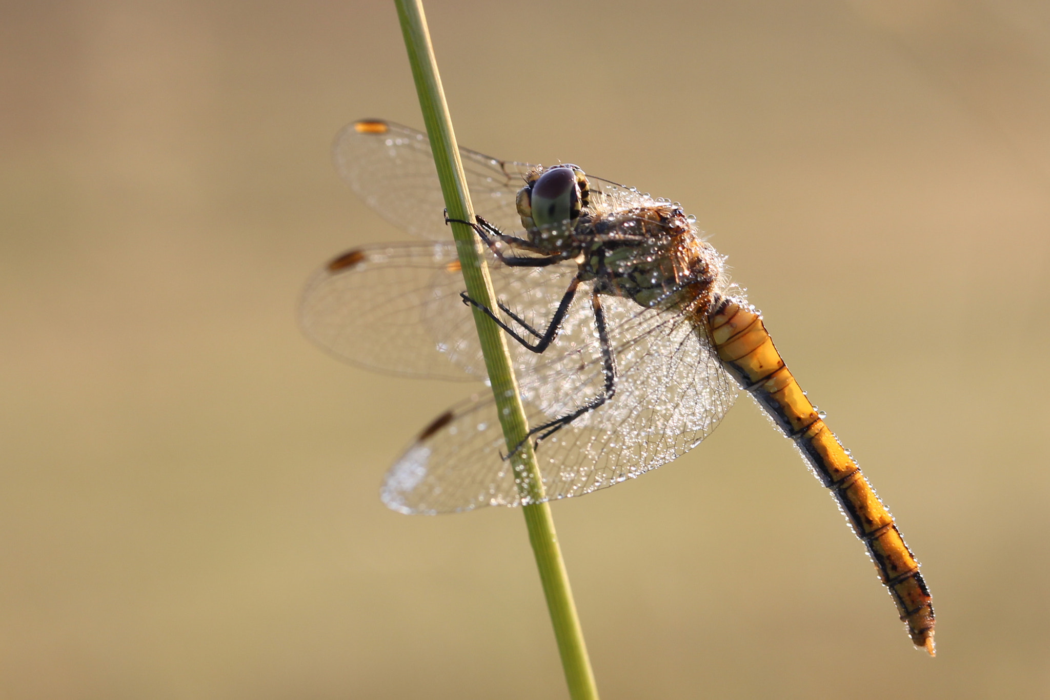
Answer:
[{"label": "dew-speckled part of the lowest wing, right of the green stem", "polygon": [[[713,351],[706,323],[680,310],[640,310],[603,298],[616,362],[615,394],[543,440],[537,460],[549,499],[582,495],[667,464],[707,438],[738,386]],[[589,319],[588,319],[589,321]],[[588,322],[576,332],[593,336]],[[603,391],[600,345],[559,361],[523,386],[530,425],[571,413]]]}]

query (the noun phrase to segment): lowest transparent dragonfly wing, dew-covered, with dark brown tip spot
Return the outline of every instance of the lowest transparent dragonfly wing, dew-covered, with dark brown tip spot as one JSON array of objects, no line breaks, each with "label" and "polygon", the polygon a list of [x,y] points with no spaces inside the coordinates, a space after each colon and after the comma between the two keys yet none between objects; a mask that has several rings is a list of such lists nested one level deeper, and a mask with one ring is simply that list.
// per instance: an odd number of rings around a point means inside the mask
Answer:
[{"label": "lowest transparent dragonfly wing, dew-covered, with dark brown tip spot", "polygon": [[[574,307],[589,305],[582,296]],[[699,316],[643,310],[618,297],[604,297],[603,305],[615,333],[616,393],[539,444],[547,500],[590,493],[674,460],[709,436],[736,398]],[[518,376],[530,425],[565,416],[602,390],[589,315],[574,309],[556,345],[552,358]],[[387,472],[383,502],[407,513],[520,505],[497,418],[484,394],[443,413]]]}]

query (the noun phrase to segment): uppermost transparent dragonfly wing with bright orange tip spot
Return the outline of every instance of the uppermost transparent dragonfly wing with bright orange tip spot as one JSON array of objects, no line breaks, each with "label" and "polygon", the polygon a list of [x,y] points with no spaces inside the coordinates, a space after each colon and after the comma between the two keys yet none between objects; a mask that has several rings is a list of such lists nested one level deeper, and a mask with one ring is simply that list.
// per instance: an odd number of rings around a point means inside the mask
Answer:
[{"label": "uppermost transparent dragonfly wing with bright orange tip spot", "polygon": [[[362,120],[336,135],[332,156],[339,174],[364,201],[408,233],[447,240],[445,199],[426,134],[400,124]],[[475,212],[504,230],[521,229],[514,205],[526,163],[460,149]]]}]

